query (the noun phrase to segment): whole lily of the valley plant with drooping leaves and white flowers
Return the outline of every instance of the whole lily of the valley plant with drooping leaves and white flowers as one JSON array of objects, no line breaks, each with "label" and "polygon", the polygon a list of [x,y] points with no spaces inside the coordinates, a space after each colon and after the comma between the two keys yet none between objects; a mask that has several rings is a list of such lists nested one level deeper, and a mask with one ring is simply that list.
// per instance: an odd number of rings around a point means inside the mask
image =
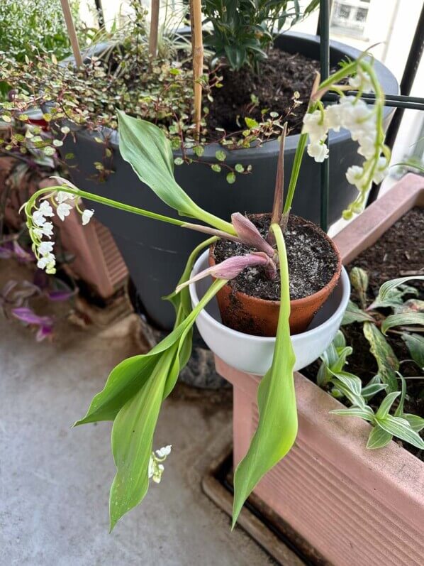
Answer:
[{"label": "whole lily of the valley plant with drooping leaves and white flowers", "polygon": [[[340,87],[338,83],[346,77],[352,77],[355,82],[357,96],[346,97],[343,94],[346,87]],[[360,99],[362,92],[369,88],[374,89],[376,94],[372,107],[367,107]],[[321,98],[328,90],[340,94],[340,101],[325,108]],[[110,494],[111,528],[124,513],[140,503],[147,492],[150,479],[160,481],[164,469],[162,462],[169,454],[170,447],[156,452],[153,450],[155,427],[162,402],[171,393],[180,369],[190,357],[191,334],[196,317],[218,290],[247,266],[262,266],[269,278],[273,278],[277,269],[279,270],[281,302],[272,366],[258,388],[259,423],[245,458],[235,470],[233,525],[257,482],[291,449],[296,439],[297,415],[284,226],[291,209],[301,160],[308,137],[309,155],[316,160],[323,160],[328,154],[328,148],[325,146],[328,130],[348,127],[352,138],[359,141],[359,153],[365,158],[362,168],[347,170],[348,180],[359,190],[358,198],[347,214],[359,212],[370,183],[384,175],[389,162],[389,150],[384,146],[383,107],[384,94],[376,80],[372,62],[369,62],[365,55],[344,65],[320,84],[317,78],[308,105],[308,114],[303,120],[303,134],[299,139],[284,207],[284,136],[281,141],[276,195],[267,238],[263,238],[250,220],[238,212],[232,215],[231,222],[227,222],[196,205],[174,180],[172,146],[164,133],[155,125],[127,116],[121,111],[118,112],[118,120],[123,158],[130,163],[140,180],[169,207],[182,216],[200,221],[201,225],[92,195],[65,180],[53,189],[49,187],[39,190],[26,203],[25,211],[33,239],[33,251],[38,258],[38,265],[44,266],[49,273],[55,271],[55,256],[50,241],[50,217],[57,214],[61,219],[65,219],[70,208],[77,207],[84,224],[91,217],[92,211],[82,209],[79,198],[169,222],[182,229],[197,229],[211,236],[189,256],[177,290],[167,298],[172,301],[176,310],[174,330],[147,354],[125,359],[118,364],[108,377],[104,389],[94,396],[87,414],[76,423],[82,425],[100,420],[113,421],[112,452],[116,477],[113,479]],[[201,298],[199,305],[192,309],[187,285],[191,283],[190,273],[194,261],[201,250],[218,238],[240,241],[252,251],[245,256],[229,258],[204,271],[201,276],[210,274],[215,281]]]}]

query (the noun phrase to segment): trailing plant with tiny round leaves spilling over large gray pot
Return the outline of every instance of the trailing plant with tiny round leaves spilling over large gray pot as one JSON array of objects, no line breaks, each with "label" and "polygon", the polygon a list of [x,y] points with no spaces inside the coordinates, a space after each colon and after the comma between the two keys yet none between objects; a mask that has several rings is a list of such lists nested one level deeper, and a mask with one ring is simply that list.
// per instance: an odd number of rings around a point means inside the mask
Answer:
[{"label": "trailing plant with tiny round leaves spilling over large gray pot", "polygon": [[[57,58],[46,54],[34,55],[19,64],[9,57],[0,60],[0,76],[9,85],[8,99],[0,102],[0,148],[18,156],[35,149],[57,160],[66,136],[84,128],[96,132],[95,141],[104,144],[104,159],[93,163],[93,173],[97,171],[103,179],[111,173],[111,137],[118,129],[116,111],[122,110],[164,131],[175,151],[176,165],[202,163],[224,174],[230,184],[237,175],[250,173],[251,165],[226,163],[228,151],[260,146],[279,137],[286,116],[265,109],[261,121],[247,114],[240,131],[211,131],[206,103],[201,136],[197,138],[193,70],[189,64],[191,44],[171,29],[162,34],[157,57],[152,58],[146,11],[138,0],[133,1],[133,8],[134,16],[125,21],[125,26],[98,34],[97,39],[106,43],[90,50],[84,67],[75,67],[72,61],[58,64]],[[222,86],[221,80],[219,65],[199,77],[208,99]],[[298,104],[294,99],[289,112]],[[43,118],[51,126],[48,133],[31,125],[30,110],[34,107],[43,108]],[[211,143],[223,146],[216,151],[215,162],[202,159]],[[73,155],[63,157],[69,161]]]}]

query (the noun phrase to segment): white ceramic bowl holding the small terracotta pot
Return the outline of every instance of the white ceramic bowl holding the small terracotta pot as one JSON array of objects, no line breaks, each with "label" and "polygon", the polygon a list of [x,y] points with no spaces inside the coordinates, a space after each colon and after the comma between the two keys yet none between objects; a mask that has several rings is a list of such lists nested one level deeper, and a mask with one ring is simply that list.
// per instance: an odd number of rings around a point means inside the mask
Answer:
[{"label": "white ceramic bowl holding the small terracotta pot", "polygon": [[[191,276],[207,267],[208,250],[204,251],[194,264]],[[199,298],[203,297],[211,283],[211,277],[191,283],[190,296],[193,307],[199,304]],[[350,282],[345,268],[342,268],[337,287],[313,317],[308,330],[291,337],[296,355],[295,371],[311,364],[330,346],[342,322],[349,297]],[[200,312],[196,324],[208,347],[227,364],[248,374],[263,376],[267,373],[272,363],[275,338],[252,336],[224,326],[216,298]]]}]

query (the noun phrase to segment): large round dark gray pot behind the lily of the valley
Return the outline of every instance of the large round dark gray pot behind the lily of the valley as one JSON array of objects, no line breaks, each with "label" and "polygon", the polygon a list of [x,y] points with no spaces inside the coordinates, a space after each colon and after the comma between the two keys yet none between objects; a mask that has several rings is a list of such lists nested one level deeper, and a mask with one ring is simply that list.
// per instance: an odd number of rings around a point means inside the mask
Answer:
[{"label": "large round dark gray pot behind the lily of the valley", "polygon": [[[317,36],[285,33],[276,39],[275,44],[289,53],[319,58]],[[337,62],[346,56],[356,58],[358,55],[359,51],[348,45],[330,42],[331,65],[337,65]],[[394,75],[379,62],[376,62],[375,69],[384,92],[397,94],[398,83]],[[393,109],[386,108],[386,126],[392,113]],[[74,153],[72,165],[76,167],[71,169],[71,174],[76,185],[129,205],[176,215],[138,180],[130,165],[123,161],[116,132],[113,132],[111,137],[111,145],[115,150],[114,173],[104,183],[94,180],[94,162],[102,160],[104,151],[104,147],[94,141],[94,136],[99,134],[87,130],[78,131],[75,135],[76,143],[72,136],[67,136],[65,153]],[[295,135],[286,140],[286,182],[290,177],[298,139],[299,135]],[[355,187],[349,185],[345,178],[347,167],[359,164],[362,158],[357,154],[357,143],[350,139],[347,131],[333,132],[330,136],[330,148],[329,220],[335,222],[356,194]],[[214,163],[217,149],[216,145],[208,146],[202,160]],[[228,151],[227,163],[252,165],[252,173],[239,175],[233,185],[228,185],[224,173],[213,173],[211,168],[202,163],[176,166],[175,177],[195,202],[223,219],[229,219],[230,214],[235,211],[267,212],[272,208],[278,149],[278,142],[271,141],[260,148]],[[306,156],[299,176],[293,212],[318,222],[319,209],[320,165]],[[170,329],[174,322],[174,310],[161,298],[174,288],[184,269],[187,256],[203,239],[202,236],[170,224],[159,224],[101,205],[96,205],[95,210],[96,217],[111,229],[116,239],[147,315],[157,326],[165,330]]]}]

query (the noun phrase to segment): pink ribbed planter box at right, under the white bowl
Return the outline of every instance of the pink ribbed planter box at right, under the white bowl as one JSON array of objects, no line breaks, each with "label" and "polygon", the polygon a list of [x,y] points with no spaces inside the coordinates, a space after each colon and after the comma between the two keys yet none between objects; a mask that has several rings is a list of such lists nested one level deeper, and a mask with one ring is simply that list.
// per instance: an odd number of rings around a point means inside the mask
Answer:
[{"label": "pink ribbed planter box at right, under the white bowl", "polygon": [[[335,237],[344,262],[414,206],[424,206],[424,178],[406,175]],[[218,358],[216,369],[234,386],[236,465],[256,429],[260,378]],[[368,423],[330,415],[342,407],[338,401],[299,373],[295,383],[296,444],[255,494],[334,565],[423,566],[423,462],[395,442],[367,450]]]}]

